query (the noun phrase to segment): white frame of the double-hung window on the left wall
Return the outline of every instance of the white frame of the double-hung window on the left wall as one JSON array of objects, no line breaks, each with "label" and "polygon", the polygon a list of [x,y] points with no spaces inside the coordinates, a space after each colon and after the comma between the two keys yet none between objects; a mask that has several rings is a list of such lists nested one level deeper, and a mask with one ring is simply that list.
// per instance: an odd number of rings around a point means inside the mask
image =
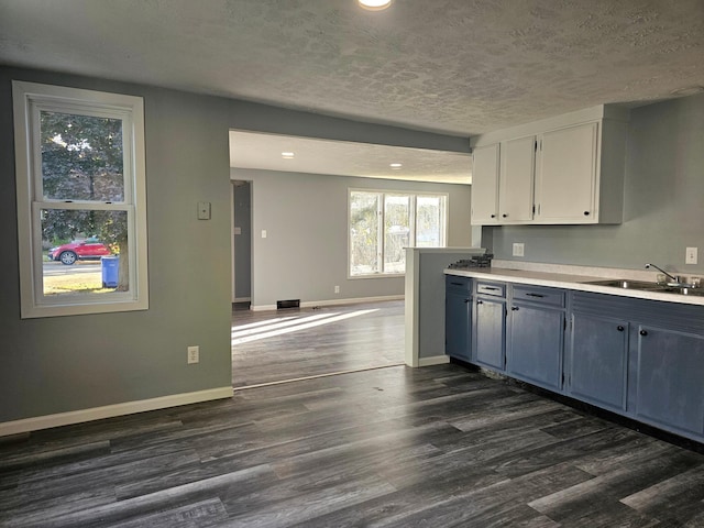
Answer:
[{"label": "white frame of the double-hung window on the left wall", "polygon": [[[148,309],[144,101],[141,97],[12,81],[22,319]],[[42,111],[105,117],[122,121],[122,201],[46,199],[42,194]],[[44,295],[42,209],[125,211],[128,292],[105,295]]]}]

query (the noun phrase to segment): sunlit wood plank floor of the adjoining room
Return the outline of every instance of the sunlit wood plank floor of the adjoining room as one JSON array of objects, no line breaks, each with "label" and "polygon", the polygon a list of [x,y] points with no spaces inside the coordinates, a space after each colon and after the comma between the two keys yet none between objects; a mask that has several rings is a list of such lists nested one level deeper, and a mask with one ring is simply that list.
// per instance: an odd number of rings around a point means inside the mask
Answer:
[{"label": "sunlit wood plank floor of the adjoining room", "polygon": [[403,363],[403,300],[232,312],[235,387]]}]

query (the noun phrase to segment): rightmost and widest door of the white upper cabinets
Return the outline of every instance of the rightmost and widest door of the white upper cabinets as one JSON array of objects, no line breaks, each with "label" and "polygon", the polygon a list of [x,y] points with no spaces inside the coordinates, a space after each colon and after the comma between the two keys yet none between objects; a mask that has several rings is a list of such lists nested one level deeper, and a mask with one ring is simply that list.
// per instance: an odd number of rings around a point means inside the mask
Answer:
[{"label": "rightmost and widest door of the white upper cabinets", "polygon": [[596,123],[542,134],[536,175],[536,219],[546,223],[594,223]]}]

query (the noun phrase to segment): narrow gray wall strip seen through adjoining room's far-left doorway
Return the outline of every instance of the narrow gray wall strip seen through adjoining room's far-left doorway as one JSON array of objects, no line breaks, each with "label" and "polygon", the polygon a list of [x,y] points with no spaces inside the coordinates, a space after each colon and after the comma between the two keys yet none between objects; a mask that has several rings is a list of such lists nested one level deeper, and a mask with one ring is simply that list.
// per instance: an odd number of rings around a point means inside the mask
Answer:
[{"label": "narrow gray wall strip seen through adjoining room's far-left doorway", "polygon": [[252,183],[243,182],[233,189],[234,227],[234,296],[244,299],[252,295]]}]

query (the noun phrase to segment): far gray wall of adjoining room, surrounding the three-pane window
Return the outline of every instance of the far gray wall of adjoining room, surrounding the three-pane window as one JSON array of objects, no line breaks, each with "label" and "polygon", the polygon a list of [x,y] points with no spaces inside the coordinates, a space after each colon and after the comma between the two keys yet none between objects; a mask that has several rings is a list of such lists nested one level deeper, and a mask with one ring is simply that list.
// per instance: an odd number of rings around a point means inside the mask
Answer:
[{"label": "far gray wall of adjoining room, surrounding the three-pane window", "polygon": [[403,277],[348,279],[351,187],[447,193],[449,245],[470,245],[469,186],[241,168],[233,168],[231,177],[252,182],[254,306],[404,294]]}]

